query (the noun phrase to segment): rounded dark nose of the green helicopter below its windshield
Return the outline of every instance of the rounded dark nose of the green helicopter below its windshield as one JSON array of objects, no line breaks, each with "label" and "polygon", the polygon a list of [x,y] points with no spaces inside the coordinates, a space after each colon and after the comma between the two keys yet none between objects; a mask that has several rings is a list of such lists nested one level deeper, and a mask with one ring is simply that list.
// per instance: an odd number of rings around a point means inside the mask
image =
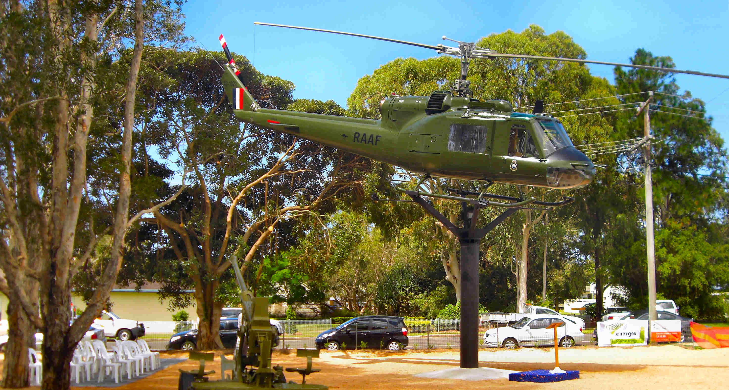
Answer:
[{"label": "rounded dark nose of the green helicopter below its windshield", "polygon": [[547,159],[547,186],[552,188],[580,188],[595,177],[595,165],[575,148],[556,151]]}]

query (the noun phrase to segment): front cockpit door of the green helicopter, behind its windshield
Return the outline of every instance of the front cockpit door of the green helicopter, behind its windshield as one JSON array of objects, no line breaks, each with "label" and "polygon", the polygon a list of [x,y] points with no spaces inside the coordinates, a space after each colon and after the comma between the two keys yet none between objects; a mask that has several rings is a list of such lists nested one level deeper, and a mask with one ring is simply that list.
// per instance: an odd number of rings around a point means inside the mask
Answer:
[{"label": "front cockpit door of the green helicopter, behind its windshield", "polygon": [[534,140],[531,123],[499,122],[496,124],[496,132],[499,137],[494,140],[494,150],[503,153],[494,159],[496,180],[531,186],[543,185],[547,166]]}]

